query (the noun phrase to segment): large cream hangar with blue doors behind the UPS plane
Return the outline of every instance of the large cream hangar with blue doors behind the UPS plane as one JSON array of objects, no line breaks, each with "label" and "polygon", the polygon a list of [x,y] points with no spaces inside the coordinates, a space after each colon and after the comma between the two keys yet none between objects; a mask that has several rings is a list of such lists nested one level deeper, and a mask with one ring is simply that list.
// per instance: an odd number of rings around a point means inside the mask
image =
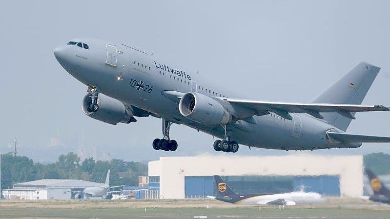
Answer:
[{"label": "large cream hangar with blue doors behind the UPS plane", "polygon": [[304,188],[324,196],[363,195],[363,156],[161,157],[148,164],[160,199],[216,195],[213,175],[237,193],[283,193]]}]

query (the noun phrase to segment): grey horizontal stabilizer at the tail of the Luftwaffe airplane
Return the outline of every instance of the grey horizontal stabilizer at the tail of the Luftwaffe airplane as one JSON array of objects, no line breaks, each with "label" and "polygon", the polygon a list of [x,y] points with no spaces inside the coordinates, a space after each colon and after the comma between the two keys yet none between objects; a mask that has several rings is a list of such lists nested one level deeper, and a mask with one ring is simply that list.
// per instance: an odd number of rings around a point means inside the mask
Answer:
[{"label": "grey horizontal stabilizer at the tail of the Luftwaffe airplane", "polygon": [[390,137],[355,135],[349,133],[328,132],[328,136],[342,142],[390,142]]}]

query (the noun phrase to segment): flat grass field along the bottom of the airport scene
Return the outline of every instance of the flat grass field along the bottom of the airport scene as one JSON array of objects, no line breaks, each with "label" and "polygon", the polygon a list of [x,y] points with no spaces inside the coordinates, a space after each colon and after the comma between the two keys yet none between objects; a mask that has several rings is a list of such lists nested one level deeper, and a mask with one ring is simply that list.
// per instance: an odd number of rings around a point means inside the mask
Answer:
[{"label": "flat grass field along the bottom of the airport scene", "polygon": [[[207,208],[208,205],[208,208]],[[232,205],[198,200],[1,200],[0,219],[189,219],[299,218],[299,219],[390,219],[390,206],[360,199],[329,199],[316,205]]]}]

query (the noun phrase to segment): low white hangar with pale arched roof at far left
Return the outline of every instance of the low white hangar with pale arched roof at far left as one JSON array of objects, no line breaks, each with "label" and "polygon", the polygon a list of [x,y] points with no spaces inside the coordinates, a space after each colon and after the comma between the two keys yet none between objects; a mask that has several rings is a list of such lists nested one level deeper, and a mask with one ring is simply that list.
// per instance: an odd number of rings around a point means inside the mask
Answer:
[{"label": "low white hangar with pale arched roof at far left", "polygon": [[74,199],[76,192],[101,183],[78,179],[40,179],[13,184],[12,189],[3,189],[4,199]]}]

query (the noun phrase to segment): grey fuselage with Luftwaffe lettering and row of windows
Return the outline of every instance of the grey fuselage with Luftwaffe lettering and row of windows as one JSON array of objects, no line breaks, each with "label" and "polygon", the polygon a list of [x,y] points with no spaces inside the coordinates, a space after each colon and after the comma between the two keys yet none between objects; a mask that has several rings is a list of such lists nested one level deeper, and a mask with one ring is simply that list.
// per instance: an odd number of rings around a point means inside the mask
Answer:
[{"label": "grey fuselage with Luftwaffe lettering and row of windows", "polygon": [[[223,138],[221,125],[205,125],[187,119],[179,112],[177,94],[200,93],[208,97],[236,97],[219,88],[200,74],[156,60],[121,43],[75,39],[86,42],[89,49],[76,45],[58,47],[56,55],[62,66],[77,80],[97,87],[106,96],[135,106],[150,115],[184,124],[212,136]],[[277,114],[253,116],[252,121],[237,120],[226,125],[230,139],[251,147],[314,150],[359,147],[361,144],[331,142],[326,132],[337,130],[328,122],[305,113],[293,113],[292,120]]]}]

